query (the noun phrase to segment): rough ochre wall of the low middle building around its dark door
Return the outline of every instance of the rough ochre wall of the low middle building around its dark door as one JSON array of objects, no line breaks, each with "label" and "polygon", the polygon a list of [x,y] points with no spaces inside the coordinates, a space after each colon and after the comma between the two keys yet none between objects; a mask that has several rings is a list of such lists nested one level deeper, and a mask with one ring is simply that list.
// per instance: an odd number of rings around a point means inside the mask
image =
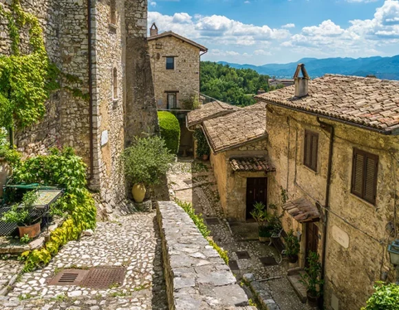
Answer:
[{"label": "rough ochre wall of the low middle building around its dark door", "polygon": [[230,220],[246,220],[246,179],[270,177],[266,172],[233,172],[229,158],[266,156],[266,139],[248,143],[219,154],[211,154],[211,163],[217,181],[220,203],[226,218]]}]

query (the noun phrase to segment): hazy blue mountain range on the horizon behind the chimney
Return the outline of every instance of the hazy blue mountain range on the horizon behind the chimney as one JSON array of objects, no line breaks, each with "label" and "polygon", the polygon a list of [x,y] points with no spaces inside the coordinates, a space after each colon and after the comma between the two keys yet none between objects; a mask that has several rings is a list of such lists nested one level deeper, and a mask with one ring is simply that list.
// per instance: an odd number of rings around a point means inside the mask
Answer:
[{"label": "hazy blue mountain range on the horizon behind the chimney", "polygon": [[367,57],[367,58],[303,58],[294,63],[270,63],[267,65],[239,65],[237,63],[226,63],[219,61],[223,65],[230,65],[237,69],[252,69],[259,74],[267,74],[279,78],[291,78],[294,75],[296,65],[305,63],[306,70],[312,78],[323,76],[326,73],[345,74],[356,76],[367,76],[375,74],[378,79],[399,80],[399,55],[392,57]]}]

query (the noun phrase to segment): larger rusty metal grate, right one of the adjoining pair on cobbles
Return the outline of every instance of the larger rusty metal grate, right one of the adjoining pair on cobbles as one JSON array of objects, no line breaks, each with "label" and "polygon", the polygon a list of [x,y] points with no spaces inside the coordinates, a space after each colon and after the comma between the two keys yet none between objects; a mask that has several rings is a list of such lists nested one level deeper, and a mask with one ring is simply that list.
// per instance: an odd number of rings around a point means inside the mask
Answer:
[{"label": "larger rusty metal grate, right one of the adjoining pair on cobbles", "polygon": [[113,286],[122,285],[125,271],[125,268],[122,267],[91,268],[81,286],[93,289],[109,289]]}]

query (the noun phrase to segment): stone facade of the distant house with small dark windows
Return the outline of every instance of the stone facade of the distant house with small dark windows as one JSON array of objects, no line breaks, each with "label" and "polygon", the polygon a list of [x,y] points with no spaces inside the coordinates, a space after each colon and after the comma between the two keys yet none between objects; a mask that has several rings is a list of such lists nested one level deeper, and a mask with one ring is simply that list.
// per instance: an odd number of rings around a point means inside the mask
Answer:
[{"label": "stone facade of the distant house with small dark windows", "polygon": [[[162,49],[156,48],[157,43]],[[175,37],[163,37],[149,41],[149,54],[158,109],[166,109],[166,91],[178,91],[177,107],[200,92],[199,48]],[[175,56],[174,70],[166,70],[166,56]]]}]

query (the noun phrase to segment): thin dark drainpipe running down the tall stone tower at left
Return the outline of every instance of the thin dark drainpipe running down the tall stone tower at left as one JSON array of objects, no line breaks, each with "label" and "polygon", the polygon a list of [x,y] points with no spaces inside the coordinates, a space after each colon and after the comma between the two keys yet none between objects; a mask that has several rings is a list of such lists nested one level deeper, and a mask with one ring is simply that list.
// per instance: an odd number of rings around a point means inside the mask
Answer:
[{"label": "thin dark drainpipe running down the tall stone tower at left", "polygon": [[93,56],[91,55],[91,0],[87,0],[87,37],[88,37],[88,61],[89,61],[89,142],[90,142],[90,177],[94,178],[94,143],[93,143]]}]

